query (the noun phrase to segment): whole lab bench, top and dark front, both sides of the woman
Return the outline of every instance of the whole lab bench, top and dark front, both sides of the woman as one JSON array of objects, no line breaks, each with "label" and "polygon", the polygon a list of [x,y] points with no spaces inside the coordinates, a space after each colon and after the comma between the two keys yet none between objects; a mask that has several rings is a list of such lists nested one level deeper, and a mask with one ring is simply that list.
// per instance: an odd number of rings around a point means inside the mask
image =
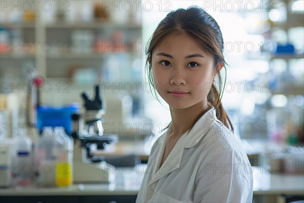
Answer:
[{"label": "whole lab bench, top and dark front, both sides of the woman", "polygon": [[[109,184],[74,184],[70,187],[1,188],[2,203],[135,202],[146,164],[116,168]],[[304,198],[304,175],[271,174],[253,167],[253,202],[278,202],[285,196]],[[284,201],[281,201],[284,202]]]}]

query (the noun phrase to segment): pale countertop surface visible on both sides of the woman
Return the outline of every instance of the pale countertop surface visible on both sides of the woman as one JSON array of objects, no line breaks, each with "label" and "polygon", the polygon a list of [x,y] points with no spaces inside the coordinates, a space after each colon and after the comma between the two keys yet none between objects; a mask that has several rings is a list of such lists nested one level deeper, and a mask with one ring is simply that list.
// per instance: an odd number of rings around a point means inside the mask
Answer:
[{"label": "pale countertop surface visible on both sides of the woman", "polygon": [[[74,184],[58,188],[1,188],[0,196],[43,196],[43,195],[137,195],[146,164],[118,168],[116,181],[110,184]],[[271,174],[264,168],[253,167],[253,194],[304,195],[304,175]]]}]

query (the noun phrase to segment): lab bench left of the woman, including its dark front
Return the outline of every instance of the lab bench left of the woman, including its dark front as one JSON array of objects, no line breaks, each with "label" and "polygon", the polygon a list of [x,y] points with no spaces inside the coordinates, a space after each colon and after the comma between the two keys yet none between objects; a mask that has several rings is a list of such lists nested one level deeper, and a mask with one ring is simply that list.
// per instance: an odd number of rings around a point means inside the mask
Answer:
[{"label": "lab bench left of the woman, including its dark front", "polygon": [[12,187],[0,189],[2,203],[135,202],[145,164],[111,169],[116,180],[104,184],[73,184],[69,187]]}]

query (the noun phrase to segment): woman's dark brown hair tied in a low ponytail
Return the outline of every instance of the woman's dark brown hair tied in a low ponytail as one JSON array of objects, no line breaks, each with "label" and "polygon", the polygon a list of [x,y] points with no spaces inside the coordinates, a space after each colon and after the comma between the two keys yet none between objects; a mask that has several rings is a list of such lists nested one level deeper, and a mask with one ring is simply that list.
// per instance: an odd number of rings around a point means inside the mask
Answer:
[{"label": "woman's dark brown hair tied in a low ponytail", "polygon": [[155,84],[151,70],[152,52],[166,37],[172,33],[185,33],[194,39],[206,53],[214,57],[214,71],[217,73],[219,91],[216,89],[215,84],[212,84],[207,96],[207,100],[211,105],[209,105],[196,118],[192,127],[207,111],[214,107],[216,110],[217,119],[219,119],[227,128],[234,131],[233,125],[221,104],[221,96],[219,94],[219,92],[223,91],[222,79],[219,74],[219,66],[220,64],[226,64],[223,56],[224,43],[222,33],[217,22],[201,7],[191,6],[187,9],[177,9],[170,12],[159,23],[153,35],[149,39],[146,49],[147,59],[145,69],[148,74],[149,84],[153,86],[155,95],[157,94],[155,92]]}]

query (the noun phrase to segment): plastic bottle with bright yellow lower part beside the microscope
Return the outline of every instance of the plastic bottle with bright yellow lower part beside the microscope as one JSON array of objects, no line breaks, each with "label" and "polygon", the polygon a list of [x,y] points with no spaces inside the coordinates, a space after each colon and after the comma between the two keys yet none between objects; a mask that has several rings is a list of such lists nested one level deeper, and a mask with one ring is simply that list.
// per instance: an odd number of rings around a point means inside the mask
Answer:
[{"label": "plastic bottle with bright yellow lower part beside the microscope", "polygon": [[73,140],[64,132],[63,127],[55,127],[56,156],[56,186],[70,186],[73,183],[72,160],[73,160]]}]

